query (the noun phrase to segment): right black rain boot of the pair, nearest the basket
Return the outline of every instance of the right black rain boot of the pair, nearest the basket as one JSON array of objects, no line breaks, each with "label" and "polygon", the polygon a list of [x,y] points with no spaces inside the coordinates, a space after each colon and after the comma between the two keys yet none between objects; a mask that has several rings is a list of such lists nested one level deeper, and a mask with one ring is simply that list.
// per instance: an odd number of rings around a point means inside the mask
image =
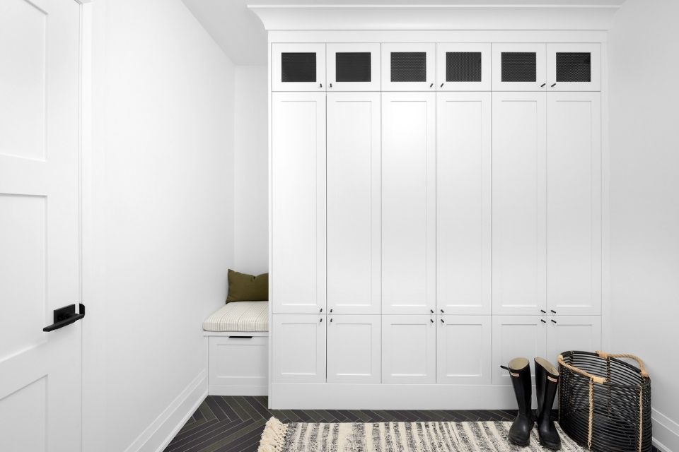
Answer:
[{"label": "right black rain boot of the pair, nearest the basket", "polygon": [[559,371],[545,358],[535,358],[535,395],[538,396],[538,434],[540,444],[552,451],[561,448],[559,432],[552,422],[552,405],[557,396]]}]

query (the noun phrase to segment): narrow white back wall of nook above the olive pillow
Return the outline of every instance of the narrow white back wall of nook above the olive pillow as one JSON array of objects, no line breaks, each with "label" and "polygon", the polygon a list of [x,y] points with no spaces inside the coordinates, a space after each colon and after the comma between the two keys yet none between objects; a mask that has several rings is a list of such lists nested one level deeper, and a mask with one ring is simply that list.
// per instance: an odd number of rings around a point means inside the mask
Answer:
[{"label": "narrow white back wall of nook above the olive pillow", "polygon": [[267,66],[236,66],[234,270],[269,268]]}]

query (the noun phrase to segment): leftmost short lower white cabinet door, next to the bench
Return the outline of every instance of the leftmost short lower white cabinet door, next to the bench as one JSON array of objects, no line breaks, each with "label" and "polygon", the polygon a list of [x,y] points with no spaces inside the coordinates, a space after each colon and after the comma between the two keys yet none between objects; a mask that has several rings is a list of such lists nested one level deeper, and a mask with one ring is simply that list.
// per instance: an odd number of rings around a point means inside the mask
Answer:
[{"label": "leftmost short lower white cabinet door, next to the bench", "polygon": [[272,316],[274,383],[325,383],[325,314]]}]

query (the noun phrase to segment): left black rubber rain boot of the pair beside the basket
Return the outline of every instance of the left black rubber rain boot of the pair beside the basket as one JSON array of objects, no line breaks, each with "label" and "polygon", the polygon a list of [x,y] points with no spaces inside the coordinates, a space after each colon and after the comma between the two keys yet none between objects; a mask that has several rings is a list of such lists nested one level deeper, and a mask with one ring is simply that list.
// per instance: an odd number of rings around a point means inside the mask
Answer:
[{"label": "left black rubber rain boot of the pair beside the basket", "polygon": [[509,371],[518,404],[518,414],[509,429],[509,441],[517,446],[528,446],[530,431],[533,429],[533,411],[530,410],[533,403],[530,363],[526,358],[514,358],[509,362],[509,367],[501,367]]}]

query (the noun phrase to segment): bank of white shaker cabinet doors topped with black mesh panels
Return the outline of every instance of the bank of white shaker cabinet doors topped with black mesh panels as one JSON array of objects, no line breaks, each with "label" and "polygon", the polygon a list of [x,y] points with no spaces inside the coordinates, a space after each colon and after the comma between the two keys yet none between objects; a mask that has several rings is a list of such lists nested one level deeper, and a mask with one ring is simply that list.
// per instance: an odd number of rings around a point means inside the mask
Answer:
[{"label": "bank of white shaker cabinet doors topped with black mesh panels", "polygon": [[600,44],[271,50],[272,391],[600,348]]}]

